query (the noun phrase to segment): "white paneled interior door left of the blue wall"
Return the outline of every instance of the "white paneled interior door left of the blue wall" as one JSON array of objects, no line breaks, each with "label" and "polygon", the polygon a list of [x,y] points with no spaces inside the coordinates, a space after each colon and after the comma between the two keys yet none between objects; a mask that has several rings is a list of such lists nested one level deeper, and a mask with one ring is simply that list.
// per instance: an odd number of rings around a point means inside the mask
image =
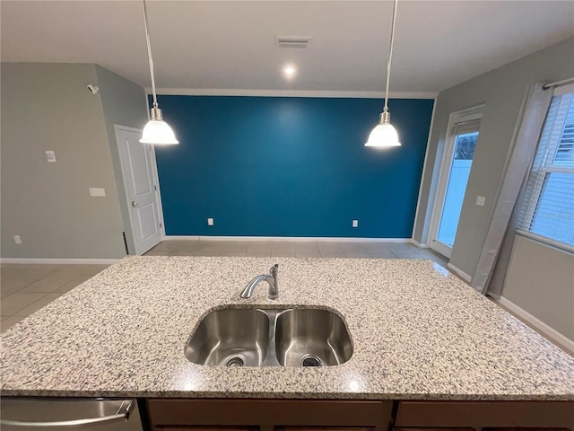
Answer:
[{"label": "white paneled interior door left of the blue wall", "polygon": [[161,241],[159,198],[153,174],[153,146],[139,142],[141,130],[117,127],[116,135],[135,254],[141,255]]}]

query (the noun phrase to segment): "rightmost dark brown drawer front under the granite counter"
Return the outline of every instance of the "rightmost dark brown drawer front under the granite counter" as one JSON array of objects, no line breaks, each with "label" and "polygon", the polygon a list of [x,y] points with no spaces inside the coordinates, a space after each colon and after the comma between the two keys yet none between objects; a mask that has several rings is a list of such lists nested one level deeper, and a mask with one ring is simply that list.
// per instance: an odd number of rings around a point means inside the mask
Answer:
[{"label": "rightmost dark brown drawer front under the granite counter", "polygon": [[566,427],[572,401],[401,401],[397,427]]}]

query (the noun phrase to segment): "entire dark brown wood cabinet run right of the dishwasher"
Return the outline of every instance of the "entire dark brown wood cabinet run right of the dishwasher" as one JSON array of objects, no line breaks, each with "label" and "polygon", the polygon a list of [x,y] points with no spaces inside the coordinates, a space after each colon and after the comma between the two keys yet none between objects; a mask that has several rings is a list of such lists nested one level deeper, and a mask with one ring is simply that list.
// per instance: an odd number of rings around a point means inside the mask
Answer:
[{"label": "entire dark brown wood cabinet run right of the dishwasher", "polygon": [[574,431],[571,401],[151,399],[145,404],[152,431]]}]

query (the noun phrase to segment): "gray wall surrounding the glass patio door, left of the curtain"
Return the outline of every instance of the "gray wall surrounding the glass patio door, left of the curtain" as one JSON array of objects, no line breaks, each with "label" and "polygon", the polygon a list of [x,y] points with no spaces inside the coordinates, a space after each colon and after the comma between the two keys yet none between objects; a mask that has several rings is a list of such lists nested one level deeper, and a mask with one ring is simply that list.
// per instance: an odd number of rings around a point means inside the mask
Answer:
[{"label": "gray wall surrounding the glass patio door, left of the curtain", "polygon": [[[439,93],[422,178],[414,240],[427,242],[449,115],[485,103],[457,239],[450,259],[452,265],[474,276],[528,85],[571,76],[574,76],[574,39],[565,40]],[[486,197],[484,207],[475,205],[479,195]]]}]

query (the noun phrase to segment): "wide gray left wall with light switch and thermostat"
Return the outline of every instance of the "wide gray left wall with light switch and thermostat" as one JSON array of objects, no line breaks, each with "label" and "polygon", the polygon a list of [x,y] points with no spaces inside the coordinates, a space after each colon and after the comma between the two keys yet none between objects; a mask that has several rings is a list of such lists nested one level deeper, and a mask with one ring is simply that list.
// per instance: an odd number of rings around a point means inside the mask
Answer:
[{"label": "wide gray left wall with light switch and thermostat", "polygon": [[[2,257],[125,256],[108,114],[102,96],[86,89],[107,74],[81,64],[2,64],[1,72]],[[46,162],[46,150],[57,163]],[[106,197],[92,198],[91,187],[106,189]]]}]

